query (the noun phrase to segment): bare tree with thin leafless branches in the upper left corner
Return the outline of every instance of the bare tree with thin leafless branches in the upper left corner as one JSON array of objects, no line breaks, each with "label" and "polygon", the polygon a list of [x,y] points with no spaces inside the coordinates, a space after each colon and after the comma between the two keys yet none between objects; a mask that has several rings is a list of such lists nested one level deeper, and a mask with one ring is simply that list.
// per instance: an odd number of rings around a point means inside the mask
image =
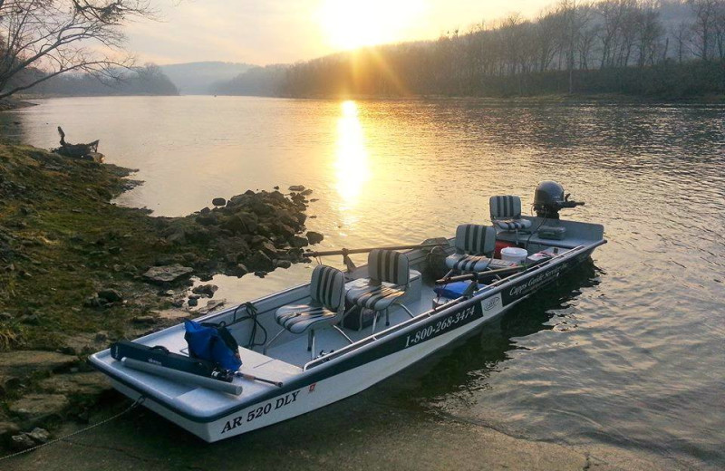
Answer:
[{"label": "bare tree with thin leafless branches in the upper left corner", "polygon": [[69,71],[117,79],[121,27],[153,16],[148,0],[0,0],[0,99]]}]

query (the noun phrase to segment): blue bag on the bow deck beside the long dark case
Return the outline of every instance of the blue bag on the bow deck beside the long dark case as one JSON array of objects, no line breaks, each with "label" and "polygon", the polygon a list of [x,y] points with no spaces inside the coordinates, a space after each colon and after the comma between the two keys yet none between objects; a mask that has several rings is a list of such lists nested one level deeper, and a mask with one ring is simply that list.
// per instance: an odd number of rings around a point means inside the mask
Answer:
[{"label": "blue bag on the bow deck beside the long dark case", "polygon": [[184,329],[189,357],[212,361],[225,370],[242,366],[239,345],[224,325],[184,321]]}]

